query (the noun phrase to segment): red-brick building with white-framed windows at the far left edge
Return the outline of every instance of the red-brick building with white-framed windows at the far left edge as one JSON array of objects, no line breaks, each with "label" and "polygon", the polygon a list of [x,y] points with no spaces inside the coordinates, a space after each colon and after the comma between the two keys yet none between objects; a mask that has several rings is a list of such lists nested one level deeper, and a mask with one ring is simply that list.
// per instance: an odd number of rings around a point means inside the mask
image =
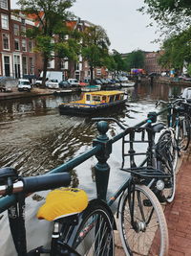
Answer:
[{"label": "red-brick building with white-framed windows at the far left edge", "polygon": [[34,42],[25,36],[34,26],[32,19],[11,12],[11,0],[0,0],[0,15],[0,76],[34,75]]}]

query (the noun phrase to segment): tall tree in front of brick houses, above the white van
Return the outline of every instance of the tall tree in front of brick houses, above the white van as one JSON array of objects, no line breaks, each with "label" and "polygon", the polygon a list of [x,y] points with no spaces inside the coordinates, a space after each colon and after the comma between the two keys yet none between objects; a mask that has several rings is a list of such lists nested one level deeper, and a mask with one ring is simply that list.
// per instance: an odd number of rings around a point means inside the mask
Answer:
[{"label": "tall tree in front of brick houses, above the white van", "polygon": [[50,59],[54,56],[60,58],[76,57],[75,50],[78,48],[74,44],[74,39],[71,38],[68,41],[61,40],[64,35],[70,33],[66,27],[66,20],[71,15],[68,9],[73,6],[74,2],[75,0],[18,1],[21,12],[32,14],[34,20],[39,23],[38,27],[33,27],[27,31],[27,36],[35,38],[35,51],[40,52],[43,57],[43,85],[45,85]]}]

